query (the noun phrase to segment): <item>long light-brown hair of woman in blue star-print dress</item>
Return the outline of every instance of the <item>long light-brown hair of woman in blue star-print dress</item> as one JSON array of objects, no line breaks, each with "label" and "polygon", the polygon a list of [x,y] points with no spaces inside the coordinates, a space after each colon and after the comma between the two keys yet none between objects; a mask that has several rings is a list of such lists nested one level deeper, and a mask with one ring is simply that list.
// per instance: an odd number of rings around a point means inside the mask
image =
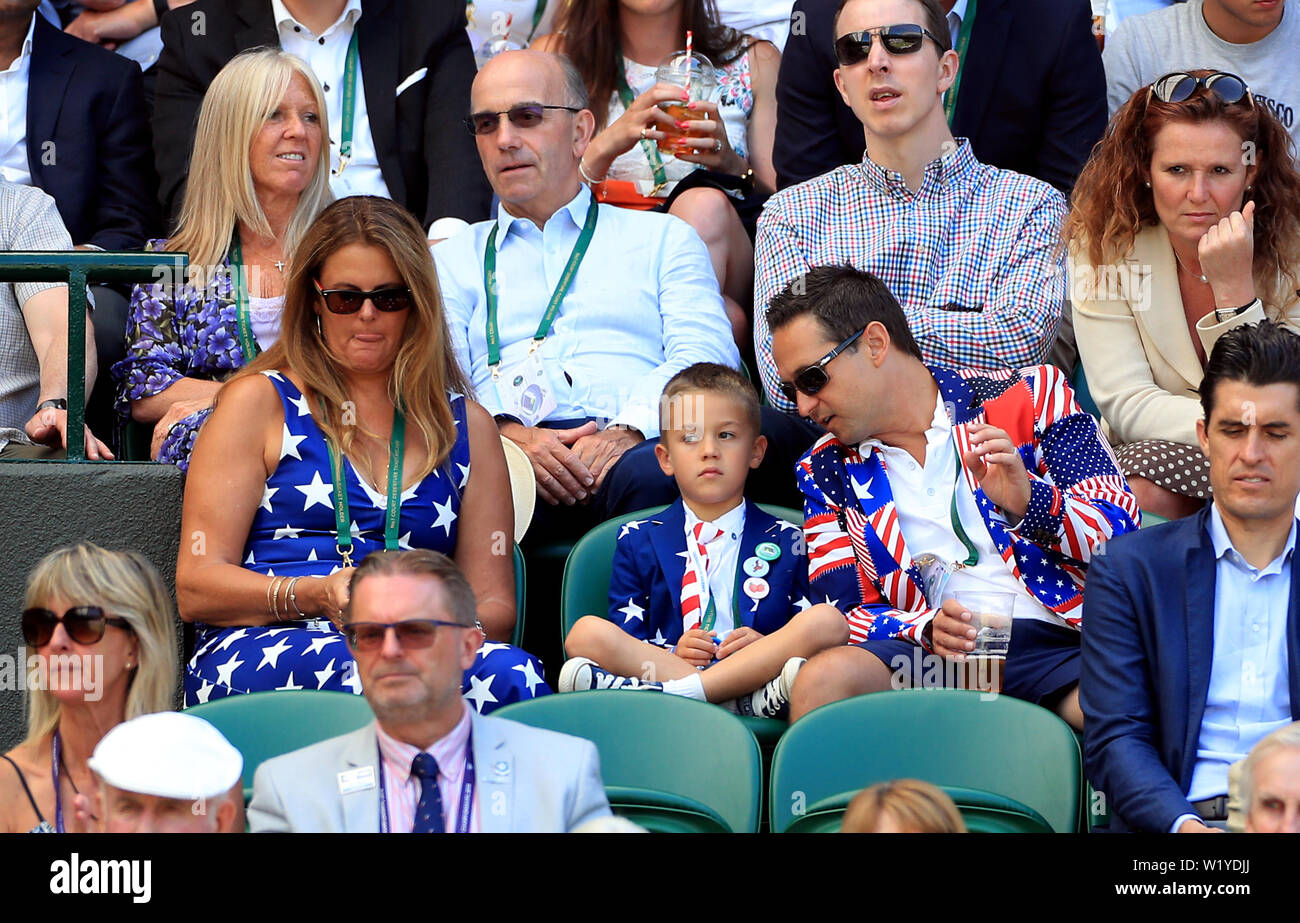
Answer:
[{"label": "long light-brown hair of woman in blue star-print dress", "polygon": [[[393,257],[402,282],[411,290],[412,308],[402,346],[389,376],[389,399],[406,413],[429,447],[419,476],[446,462],[456,442],[456,421],[447,393],[472,395],[469,382],[451,350],[451,337],[438,290],[429,242],[402,205],[373,195],[354,195],[326,207],[307,229],[285,285],[285,309],[276,344],[240,369],[230,381],[272,369],[289,369],[303,382],[303,394],[321,430],[347,452],[356,426],[342,422],[347,386],[338,358],[320,334],[316,292],[325,261],[348,244],[378,247]],[[321,311],[326,308],[321,306]],[[220,400],[220,393],[217,399]],[[320,412],[320,400],[326,410]]]}]

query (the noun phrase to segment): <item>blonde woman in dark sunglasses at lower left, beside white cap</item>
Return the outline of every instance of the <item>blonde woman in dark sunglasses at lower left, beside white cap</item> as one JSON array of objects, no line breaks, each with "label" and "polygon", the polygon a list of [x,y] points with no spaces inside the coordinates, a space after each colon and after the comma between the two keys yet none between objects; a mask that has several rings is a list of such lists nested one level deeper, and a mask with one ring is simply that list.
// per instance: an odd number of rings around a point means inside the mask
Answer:
[{"label": "blonde woman in dark sunglasses at lower left, beside white cap", "polygon": [[[27,577],[22,636],[36,670],[29,677],[27,737],[0,766],[0,832],[81,832],[73,802],[96,792],[86,760],[100,737],[172,707],[172,601],[153,566],[134,551],[58,549]],[[29,676],[27,663],[20,660],[18,671]]]}]

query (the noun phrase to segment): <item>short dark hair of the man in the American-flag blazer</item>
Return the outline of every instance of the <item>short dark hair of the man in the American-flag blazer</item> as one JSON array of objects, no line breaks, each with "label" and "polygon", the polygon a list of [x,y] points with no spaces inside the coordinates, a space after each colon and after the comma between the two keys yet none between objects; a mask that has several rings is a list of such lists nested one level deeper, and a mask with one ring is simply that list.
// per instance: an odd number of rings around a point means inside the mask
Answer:
[{"label": "short dark hair of the man in the American-flag blazer", "polygon": [[801,315],[815,317],[827,337],[837,343],[867,324],[880,321],[901,352],[922,358],[907,328],[907,316],[888,286],[850,265],[814,266],[796,276],[767,306],[767,326],[776,332]]}]

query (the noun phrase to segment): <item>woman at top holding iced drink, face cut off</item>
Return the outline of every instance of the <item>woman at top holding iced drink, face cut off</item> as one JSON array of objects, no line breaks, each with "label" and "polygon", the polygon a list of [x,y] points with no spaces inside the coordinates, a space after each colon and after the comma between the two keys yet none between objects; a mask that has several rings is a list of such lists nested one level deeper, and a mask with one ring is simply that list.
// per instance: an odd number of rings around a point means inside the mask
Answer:
[{"label": "woman at top holding iced drink, face cut off", "polygon": [[[582,176],[602,202],[667,211],[703,238],[736,342],[749,347],[754,233],[776,188],[776,72],[770,42],[723,26],[705,0],[572,0],[556,31],[533,43],[577,66],[599,130],[582,156]],[[655,83],[655,69],[685,47],[718,69],[712,98],[675,125],[660,103],[681,103],[679,87]],[[659,156],[671,133],[676,147]],[[681,136],[682,131],[689,136]]]}]

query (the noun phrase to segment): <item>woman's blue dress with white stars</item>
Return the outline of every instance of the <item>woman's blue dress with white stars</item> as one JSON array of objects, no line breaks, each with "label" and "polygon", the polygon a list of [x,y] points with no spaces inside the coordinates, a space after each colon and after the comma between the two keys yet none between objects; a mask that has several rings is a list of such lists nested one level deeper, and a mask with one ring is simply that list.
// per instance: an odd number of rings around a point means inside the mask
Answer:
[{"label": "woman's blue dress with white stars", "polygon": [[[278,372],[264,373],[280,391],[285,426],[280,464],[263,490],[244,545],[243,566],[268,576],[322,577],[342,562],[334,537],[333,472],[325,436],[298,387]],[[456,550],[460,490],[469,482],[465,400],[451,396],[456,442],[451,455],[420,484],[402,493],[400,547]],[[358,477],[344,459],[352,514],[352,556],[384,547],[387,498]],[[361,692],[343,634],[328,619],[277,625],[196,624],[194,658],[185,671],[185,705],[272,689]],[[542,663],[511,645],[486,642],[464,675],[464,694],[480,714],[551,692]]]}]

